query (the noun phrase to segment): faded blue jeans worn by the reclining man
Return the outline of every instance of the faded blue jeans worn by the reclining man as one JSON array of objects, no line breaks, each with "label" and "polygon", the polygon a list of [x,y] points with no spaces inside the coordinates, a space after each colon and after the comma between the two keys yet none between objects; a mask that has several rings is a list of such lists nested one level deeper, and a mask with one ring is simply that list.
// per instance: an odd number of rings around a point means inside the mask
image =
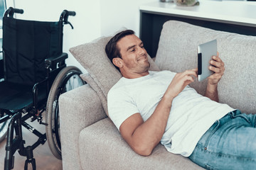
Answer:
[{"label": "faded blue jeans worn by the reclining man", "polygon": [[205,169],[256,169],[255,118],[228,113],[201,137],[189,159]]}]

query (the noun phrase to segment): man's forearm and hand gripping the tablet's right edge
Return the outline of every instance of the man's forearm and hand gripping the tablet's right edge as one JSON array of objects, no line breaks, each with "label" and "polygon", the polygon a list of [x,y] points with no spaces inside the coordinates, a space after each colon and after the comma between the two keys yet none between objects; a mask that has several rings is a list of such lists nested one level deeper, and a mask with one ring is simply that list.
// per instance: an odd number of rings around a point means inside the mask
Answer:
[{"label": "man's forearm and hand gripping the tablet's right edge", "polygon": [[225,64],[222,60],[220,60],[218,52],[217,56],[213,56],[213,60],[210,61],[210,64],[213,66],[210,66],[209,69],[215,73],[208,77],[208,85],[205,96],[218,102],[218,82],[224,74]]}]

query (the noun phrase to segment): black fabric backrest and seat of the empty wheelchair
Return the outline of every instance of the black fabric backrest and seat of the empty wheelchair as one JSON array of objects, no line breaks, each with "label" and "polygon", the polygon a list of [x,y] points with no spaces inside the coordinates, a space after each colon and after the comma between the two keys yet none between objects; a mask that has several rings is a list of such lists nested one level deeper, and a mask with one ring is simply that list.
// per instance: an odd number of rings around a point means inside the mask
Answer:
[{"label": "black fabric backrest and seat of the empty wheelchair", "polygon": [[[62,45],[63,22],[3,18],[1,109],[18,111],[33,106],[33,86],[47,77],[45,60],[63,55]],[[39,104],[48,97],[47,83],[43,85],[38,90]]]}]

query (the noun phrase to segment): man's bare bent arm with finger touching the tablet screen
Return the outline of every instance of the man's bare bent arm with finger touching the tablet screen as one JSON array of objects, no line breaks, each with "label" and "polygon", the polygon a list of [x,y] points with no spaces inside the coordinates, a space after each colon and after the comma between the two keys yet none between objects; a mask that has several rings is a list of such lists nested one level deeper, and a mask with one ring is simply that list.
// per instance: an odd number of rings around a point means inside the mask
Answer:
[{"label": "man's bare bent arm with finger touching the tablet screen", "polygon": [[131,115],[127,120],[124,120],[119,128],[120,133],[137,154],[148,156],[154,147],[159,144],[169,118],[171,103],[185,86],[193,82],[192,75],[197,77],[196,70],[187,70],[175,75],[163,98],[148,120],[144,122],[139,113]]}]

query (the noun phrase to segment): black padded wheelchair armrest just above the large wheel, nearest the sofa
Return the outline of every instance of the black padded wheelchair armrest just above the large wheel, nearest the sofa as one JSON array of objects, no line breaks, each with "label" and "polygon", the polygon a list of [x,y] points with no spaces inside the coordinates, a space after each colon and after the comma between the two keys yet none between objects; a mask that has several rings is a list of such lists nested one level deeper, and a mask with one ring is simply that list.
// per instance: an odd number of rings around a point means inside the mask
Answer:
[{"label": "black padded wheelchair armrest just above the large wheel, nearest the sofa", "polygon": [[45,60],[46,68],[52,68],[55,69],[57,67],[57,64],[60,63],[60,66],[65,64],[65,59],[68,58],[68,54],[63,52],[59,56],[53,56]]}]

